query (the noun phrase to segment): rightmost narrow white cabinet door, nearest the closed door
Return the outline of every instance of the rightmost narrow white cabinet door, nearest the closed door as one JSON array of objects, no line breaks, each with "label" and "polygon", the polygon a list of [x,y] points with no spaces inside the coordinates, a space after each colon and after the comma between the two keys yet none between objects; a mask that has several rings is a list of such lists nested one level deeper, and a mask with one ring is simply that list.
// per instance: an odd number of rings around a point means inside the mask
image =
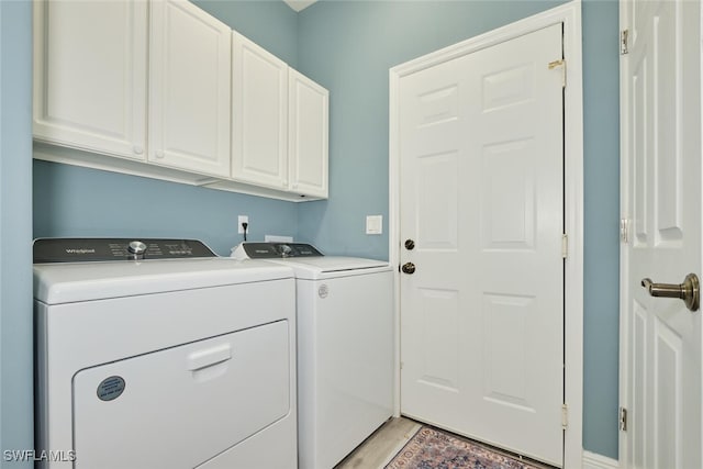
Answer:
[{"label": "rightmost narrow white cabinet door, nearest the closed door", "polygon": [[289,93],[290,190],[326,198],[330,92],[291,69]]}]

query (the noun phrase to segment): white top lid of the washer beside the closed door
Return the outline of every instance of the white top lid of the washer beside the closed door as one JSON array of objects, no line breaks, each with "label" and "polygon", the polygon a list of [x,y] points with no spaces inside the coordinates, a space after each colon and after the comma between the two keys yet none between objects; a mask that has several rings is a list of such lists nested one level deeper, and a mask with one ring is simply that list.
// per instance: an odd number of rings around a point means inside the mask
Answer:
[{"label": "white top lid of the washer beside the closed door", "polygon": [[390,264],[384,260],[364,259],[359,257],[298,257],[271,259],[270,261],[290,266],[295,270],[297,278],[308,280],[358,276],[391,269]]}]

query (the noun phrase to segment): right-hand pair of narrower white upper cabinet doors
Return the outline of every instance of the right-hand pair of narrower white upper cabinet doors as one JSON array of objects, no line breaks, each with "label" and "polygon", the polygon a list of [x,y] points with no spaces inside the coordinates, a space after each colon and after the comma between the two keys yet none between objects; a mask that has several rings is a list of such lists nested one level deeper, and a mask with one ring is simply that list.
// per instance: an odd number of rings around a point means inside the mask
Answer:
[{"label": "right-hand pair of narrower white upper cabinet doors", "polygon": [[232,177],[327,197],[328,92],[232,34]]}]

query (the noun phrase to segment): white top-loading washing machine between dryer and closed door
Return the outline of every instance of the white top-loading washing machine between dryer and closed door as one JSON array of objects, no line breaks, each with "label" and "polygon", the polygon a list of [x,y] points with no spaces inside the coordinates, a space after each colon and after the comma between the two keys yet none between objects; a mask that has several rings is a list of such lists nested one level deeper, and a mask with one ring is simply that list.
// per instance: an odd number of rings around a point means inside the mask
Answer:
[{"label": "white top-loading washing machine between dryer and closed door", "polygon": [[299,466],[331,469],[393,412],[391,267],[300,243],[242,243],[232,256],[295,271]]}]

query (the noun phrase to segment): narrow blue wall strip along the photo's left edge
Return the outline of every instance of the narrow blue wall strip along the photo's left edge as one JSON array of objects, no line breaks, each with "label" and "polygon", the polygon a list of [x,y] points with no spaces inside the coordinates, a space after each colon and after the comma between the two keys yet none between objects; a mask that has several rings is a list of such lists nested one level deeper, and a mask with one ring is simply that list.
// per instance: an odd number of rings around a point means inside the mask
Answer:
[{"label": "narrow blue wall strip along the photo's left edge", "polygon": [[34,447],[31,56],[31,2],[0,1],[0,451]]}]

